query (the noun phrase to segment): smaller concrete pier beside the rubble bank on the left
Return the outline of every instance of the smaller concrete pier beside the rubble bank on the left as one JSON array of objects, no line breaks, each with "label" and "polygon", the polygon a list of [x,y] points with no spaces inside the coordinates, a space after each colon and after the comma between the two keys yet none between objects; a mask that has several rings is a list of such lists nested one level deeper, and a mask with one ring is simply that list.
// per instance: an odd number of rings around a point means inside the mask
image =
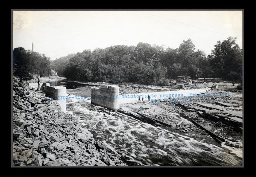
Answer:
[{"label": "smaller concrete pier beside the rubble bank on the left", "polygon": [[63,86],[46,86],[43,87],[45,95],[47,97],[53,98],[57,100],[57,102],[60,104],[61,111],[66,113],[66,107],[67,107],[67,90],[66,87]]}]

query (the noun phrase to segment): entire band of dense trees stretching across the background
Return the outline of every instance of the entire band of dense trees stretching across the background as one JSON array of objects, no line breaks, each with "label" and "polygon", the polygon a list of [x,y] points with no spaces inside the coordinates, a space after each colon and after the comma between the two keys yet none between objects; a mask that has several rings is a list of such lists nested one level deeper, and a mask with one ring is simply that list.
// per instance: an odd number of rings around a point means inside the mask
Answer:
[{"label": "entire band of dense trees stretching across the background", "polygon": [[168,85],[178,75],[191,78],[214,77],[233,82],[242,79],[242,50],[236,38],[218,41],[210,55],[195,50],[191,39],[176,49],[138,43],[137,46],[117,45],[49,61],[45,55],[14,49],[14,75],[29,78],[31,74],[49,75],[55,69],[59,76],[72,80],[97,82],[138,82]]}]

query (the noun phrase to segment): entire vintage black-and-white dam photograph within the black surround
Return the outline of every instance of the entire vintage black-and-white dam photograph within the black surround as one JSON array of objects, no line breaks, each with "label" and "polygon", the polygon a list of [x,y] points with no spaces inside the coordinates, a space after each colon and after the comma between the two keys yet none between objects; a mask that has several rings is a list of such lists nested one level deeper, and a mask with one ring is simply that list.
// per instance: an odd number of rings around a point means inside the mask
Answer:
[{"label": "entire vintage black-and-white dam photograph within the black surround", "polygon": [[12,167],[244,166],[244,9],[11,9]]}]

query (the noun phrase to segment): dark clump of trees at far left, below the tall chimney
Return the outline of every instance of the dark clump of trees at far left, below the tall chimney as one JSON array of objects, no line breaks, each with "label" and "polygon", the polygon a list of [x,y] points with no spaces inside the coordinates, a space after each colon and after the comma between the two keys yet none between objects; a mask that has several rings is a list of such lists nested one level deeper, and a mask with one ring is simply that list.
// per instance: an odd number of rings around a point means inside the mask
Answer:
[{"label": "dark clump of trees at far left, below the tall chimney", "polygon": [[14,48],[13,67],[14,76],[21,81],[33,79],[36,75],[46,77],[51,74],[50,58],[23,47]]}]

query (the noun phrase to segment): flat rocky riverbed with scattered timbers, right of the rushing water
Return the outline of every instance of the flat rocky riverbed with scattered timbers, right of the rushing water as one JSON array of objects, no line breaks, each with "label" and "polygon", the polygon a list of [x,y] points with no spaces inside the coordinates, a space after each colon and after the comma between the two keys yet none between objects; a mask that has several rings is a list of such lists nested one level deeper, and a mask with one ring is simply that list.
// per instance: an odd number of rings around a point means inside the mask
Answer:
[{"label": "flat rocky riverbed with scattered timbers, right of the rushing water", "polygon": [[[121,104],[120,107],[136,116],[139,116],[138,112],[170,124],[172,127],[167,126],[166,129],[179,134],[198,139],[209,136],[205,130],[191,122],[196,121],[207,130],[225,138],[226,144],[241,148],[242,151],[242,91],[237,91],[236,86],[232,85],[229,82],[199,83],[196,86],[192,84],[186,89],[211,86],[208,96],[165,98],[146,105],[145,99],[145,102]],[[164,127],[157,123],[155,125]]]}]

